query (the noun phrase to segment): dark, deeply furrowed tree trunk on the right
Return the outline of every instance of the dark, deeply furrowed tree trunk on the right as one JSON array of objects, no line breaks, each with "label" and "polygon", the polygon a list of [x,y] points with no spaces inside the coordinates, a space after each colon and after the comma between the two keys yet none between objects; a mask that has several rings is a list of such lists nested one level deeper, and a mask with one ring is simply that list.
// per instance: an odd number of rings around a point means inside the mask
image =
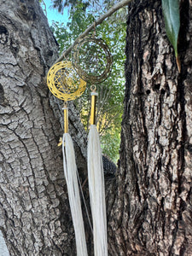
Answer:
[{"label": "dark, deeply furrowed tree trunk on the right", "polygon": [[177,72],[161,1],[129,8],[110,255],[192,255],[192,2],[181,1]]}]

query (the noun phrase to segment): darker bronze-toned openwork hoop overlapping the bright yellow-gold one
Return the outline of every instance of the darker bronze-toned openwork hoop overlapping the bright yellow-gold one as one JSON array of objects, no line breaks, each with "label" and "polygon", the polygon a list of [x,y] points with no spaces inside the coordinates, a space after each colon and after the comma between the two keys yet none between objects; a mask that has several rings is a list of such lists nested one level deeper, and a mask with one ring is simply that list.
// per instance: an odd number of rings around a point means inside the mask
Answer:
[{"label": "darker bronze-toned openwork hoop overlapping the bright yellow-gold one", "polygon": [[112,55],[101,38],[79,38],[73,45],[72,59],[80,78],[90,84],[102,83],[111,72]]}]

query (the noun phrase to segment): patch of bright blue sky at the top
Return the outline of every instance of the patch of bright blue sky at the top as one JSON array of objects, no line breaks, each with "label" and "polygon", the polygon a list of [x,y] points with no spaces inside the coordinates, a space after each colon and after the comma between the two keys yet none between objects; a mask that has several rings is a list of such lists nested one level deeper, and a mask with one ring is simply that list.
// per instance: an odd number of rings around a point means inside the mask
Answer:
[{"label": "patch of bright blue sky at the top", "polygon": [[[44,0],[43,2],[46,5],[47,18],[48,18],[48,21],[49,21],[49,26],[52,24],[52,20],[67,23],[67,21],[68,21],[67,9],[64,9],[63,15],[61,15],[56,9],[51,7],[51,5],[52,5],[51,0]],[[41,6],[42,6],[43,9],[45,9],[43,3],[41,3]]]}]

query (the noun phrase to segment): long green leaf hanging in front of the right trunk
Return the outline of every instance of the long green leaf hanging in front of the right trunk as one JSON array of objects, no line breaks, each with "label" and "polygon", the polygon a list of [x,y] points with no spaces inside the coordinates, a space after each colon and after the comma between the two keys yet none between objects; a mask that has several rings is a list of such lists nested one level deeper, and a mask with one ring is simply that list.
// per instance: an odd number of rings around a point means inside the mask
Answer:
[{"label": "long green leaf hanging in front of the right trunk", "polygon": [[166,35],[169,38],[177,57],[177,39],[180,27],[179,0],[161,0],[166,25]]}]

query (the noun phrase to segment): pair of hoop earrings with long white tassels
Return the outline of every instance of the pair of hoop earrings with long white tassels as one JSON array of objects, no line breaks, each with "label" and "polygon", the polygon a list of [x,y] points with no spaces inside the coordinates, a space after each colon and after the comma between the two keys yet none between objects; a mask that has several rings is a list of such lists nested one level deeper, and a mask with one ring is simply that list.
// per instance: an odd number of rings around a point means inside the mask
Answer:
[{"label": "pair of hoop earrings with long white tassels", "polygon": [[[51,93],[64,101],[64,134],[61,141],[63,168],[73,218],[77,255],[79,256],[87,255],[87,247],[79,196],[78,169],[75,163],[73,141],[68,133],[67,102],[84,93],[86,82],[99,84],[104,79],[107,79],[111,64],[112,56],[110,50],[102,39],[80,38],[73,45],[73,64],[69,61],[58,62],[49,69],[47,76],[47,83]],[[95,255],[107,256],[108,239],[102,150],[99,134],[96,130],[96,86],[91,85],[90,90],[91,110],[87,166],[93,221],[94,253]]]}]

